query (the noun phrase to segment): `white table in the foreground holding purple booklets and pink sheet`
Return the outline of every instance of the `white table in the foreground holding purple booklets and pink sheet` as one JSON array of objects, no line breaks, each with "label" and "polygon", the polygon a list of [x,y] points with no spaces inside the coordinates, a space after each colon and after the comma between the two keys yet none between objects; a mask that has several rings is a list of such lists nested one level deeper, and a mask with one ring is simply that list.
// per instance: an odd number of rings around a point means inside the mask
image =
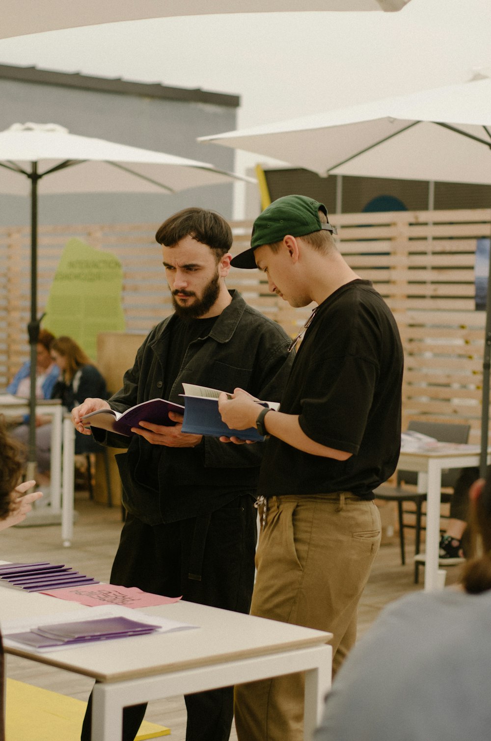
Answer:
[{"label": "white table in the foreground holding purple booklets and pink sheet", "polygon": [[[55,612],[66,612],[68,618],[70,611],[81,607],[76,602],[0,586],[2,622],[26,614],[42,617]],[[331,685],[332,647],[326,641],[332,634],[192,602],[146,608],[145,613],[200,627],[47,654],[35,654],[28,648],[6,647],[5,651],[97,680],[93,690],[93,741],[121,740],[125,705],[293,671],[306,672],[304,738],[312,738]]]}]

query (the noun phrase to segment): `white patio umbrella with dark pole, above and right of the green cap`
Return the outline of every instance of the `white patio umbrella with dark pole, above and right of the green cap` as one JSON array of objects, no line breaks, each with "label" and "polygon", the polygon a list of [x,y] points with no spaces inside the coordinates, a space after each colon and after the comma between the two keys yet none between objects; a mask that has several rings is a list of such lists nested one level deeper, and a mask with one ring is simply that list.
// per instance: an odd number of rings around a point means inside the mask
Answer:
[{"label": "white patio umbrella with dark pole, above and right of the green cap", "polygon": [[[200,141],[274,157],[320,175],[490,185],[491,79],[205,136]],[[491,271],[483,362],[481,474],[487,460],[490,362]]]}]

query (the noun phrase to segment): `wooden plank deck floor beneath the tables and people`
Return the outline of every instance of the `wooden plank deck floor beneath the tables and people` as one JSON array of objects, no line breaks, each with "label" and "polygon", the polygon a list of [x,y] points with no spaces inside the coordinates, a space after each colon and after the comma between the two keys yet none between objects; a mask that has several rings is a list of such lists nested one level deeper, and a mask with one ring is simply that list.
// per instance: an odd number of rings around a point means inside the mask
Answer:
[{"label": "wooden plank deck floor beneath the tables and people", "polygon": [[[1,534],[1,557],[8,561],[47,560],[64,562],[100,581],[108,581],[111,563],[119,541],[122,522],[118,508],[94,504],[85,492],[76,492],[76,511],[73,545],[63,548],[58,526],[10,528]],[[382,545],[372,575],[360,602],[359,637],[388,602],[409,591],[421,589],[413,584],[412,544],[407,545],[406,566],[401,566],[398,540]],[[447,584],[458,579],[458,568],[447,570]],[[421,579],[423,579],[421,570]],[[92,682],[86,677],[30,662],[19,657],[7,657],[7,674],[13,679],[87,700]],[[185,705],[182,697],[151,702],[145,718],[171,728],[171,739],[185,740]],[[231,741],[237,739],[232,730]],[[12,740],[21,741],[21,740]],[[72,741],[55,739],[53,741]],[[73,741],[76,741],[75,739]]]}]

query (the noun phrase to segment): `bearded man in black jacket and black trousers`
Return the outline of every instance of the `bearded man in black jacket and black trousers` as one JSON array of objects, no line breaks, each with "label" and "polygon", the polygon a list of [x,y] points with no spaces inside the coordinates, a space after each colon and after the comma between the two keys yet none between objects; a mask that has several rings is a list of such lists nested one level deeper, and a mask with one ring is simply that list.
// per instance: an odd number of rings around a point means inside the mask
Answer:
[{"label": "bearded man in black jacket and black trousers", "polygon": [[[228,291],[232,233],[217,213],[187,208],[156,232],[174,313],[151,331],[123,388],[105,402],[85,399],[72,412],[126,409],[161,397],[182,402],[182,383],[223,391],[243,388],[258,399],[280,401],[293,353],[289,337],[271,319]],[[263,443],[223,445],[182,433],[176,425],[140,422],[131,438],[94,428],[99,442],[128,448],[116,456],[125,525],[111,583],[154,594],[248,613],[254,582],[256,487]],[[233,689],[187,695],[187,741],[227,741]],[[123,740],[132,741],[145,705],[125,708]],[[90,739],[90,705],[82,740]]]}]

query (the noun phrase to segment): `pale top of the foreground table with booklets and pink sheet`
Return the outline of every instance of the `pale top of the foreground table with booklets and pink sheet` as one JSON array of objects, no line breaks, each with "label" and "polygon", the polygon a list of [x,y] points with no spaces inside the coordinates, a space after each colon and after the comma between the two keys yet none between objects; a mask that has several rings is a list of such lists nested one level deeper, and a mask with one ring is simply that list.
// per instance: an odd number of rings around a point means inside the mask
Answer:
[{"label": "pale top of the foreground table with booklets and pink sheet", "polygon": [[[25,615],[43,617],[66,613],[68,617],[70,611],[80,611],[81,608],[82,605],[78,602],[67,602],[45,594],[32,594],[0,585],[2,622],[10,622]],[[12,647],[5,647],[5,651],[85,674],[99,682],[117,682],[294,651],[322,645],[332,638],[330,633],[300,625],[289,625],[183,600],[171,605],[145,608],[142,612],[149,616],[159,615],[191,623],[199,628],[95,642],[43,654]]]}]

